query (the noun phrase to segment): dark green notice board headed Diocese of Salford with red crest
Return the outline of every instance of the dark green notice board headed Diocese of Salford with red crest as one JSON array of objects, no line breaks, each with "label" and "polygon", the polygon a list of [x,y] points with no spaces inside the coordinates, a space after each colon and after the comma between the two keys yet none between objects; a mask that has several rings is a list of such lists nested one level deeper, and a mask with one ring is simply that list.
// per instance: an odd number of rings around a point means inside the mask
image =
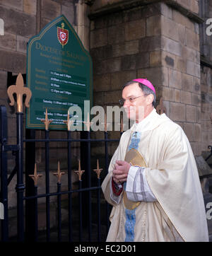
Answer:
[{"label": "dark green notice board headed Diocese of Salford with red crest", "polygon": [[[65,16],[59,16],[28,42],[27,86],[32,91],[26,109],[26,128],[45,129],[40,120],[52,120],[49,129],[67,129],[71,106],[93,102],[92,60]],[[83,116],[83,115],[82,115]],[[83,120],[82,120],[83,121]]]}]

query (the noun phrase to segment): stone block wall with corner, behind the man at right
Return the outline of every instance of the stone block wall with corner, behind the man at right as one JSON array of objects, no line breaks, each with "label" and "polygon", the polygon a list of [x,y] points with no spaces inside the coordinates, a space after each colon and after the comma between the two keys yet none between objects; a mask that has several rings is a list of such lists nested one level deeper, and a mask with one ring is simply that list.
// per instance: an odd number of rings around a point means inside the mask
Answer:
[{"label": "stone block wall with corner, behind the man at right", "polygon": [[201,155],[198,1],[112,1],[119,8],[109,2],[98,1],[90,16],[94,103],[116,105],[126,81],[148,78],[157,102],[163,98],[167,116]]}]

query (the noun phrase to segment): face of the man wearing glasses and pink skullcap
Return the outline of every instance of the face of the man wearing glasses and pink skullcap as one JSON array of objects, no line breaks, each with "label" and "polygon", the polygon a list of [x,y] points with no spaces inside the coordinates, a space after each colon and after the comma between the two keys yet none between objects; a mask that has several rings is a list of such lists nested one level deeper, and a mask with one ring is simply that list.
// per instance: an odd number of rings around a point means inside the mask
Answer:
[{"label": "face of the man wearing glasses and pink skullcap", "polygon": [[148,95],[143,94],[138,83],[131,83],[123,89],[122,98],[125,100],[126,116],[131,120],[141,122],[145,117],[147,107],[150,105]]}]

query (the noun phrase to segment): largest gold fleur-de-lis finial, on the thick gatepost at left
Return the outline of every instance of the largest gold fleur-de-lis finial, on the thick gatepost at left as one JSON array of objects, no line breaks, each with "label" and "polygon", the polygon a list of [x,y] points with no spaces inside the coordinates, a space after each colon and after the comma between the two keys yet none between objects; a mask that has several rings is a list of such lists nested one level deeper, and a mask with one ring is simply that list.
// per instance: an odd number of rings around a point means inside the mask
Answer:
[{"label": "largest gold fleur-de-lis finial, on the thick gatepost at left", "polygon": [[32,92],[30,88],[24,87],[23,76],[19,73],[16,79],[16,86],[9,86],[7,89],[8,98],[11,100],[10,105],[13,106],[15,103],[13,93],[17,95],[17,112],[23,112],[23,95],[26,95],[25,106],[30,107],[30,98],[32,97]]}]

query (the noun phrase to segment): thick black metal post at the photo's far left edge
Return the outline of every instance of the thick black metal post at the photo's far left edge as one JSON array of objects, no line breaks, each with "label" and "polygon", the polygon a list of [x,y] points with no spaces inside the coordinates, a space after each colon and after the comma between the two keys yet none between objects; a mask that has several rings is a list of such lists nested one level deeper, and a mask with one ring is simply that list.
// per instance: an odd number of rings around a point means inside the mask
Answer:
[{"label": "thick black metal post at the photo's far left edge", "polygon": [[7,115],[6,107],[0,106],[1,111],[1,203],[4,205],[4,220],[1,221],[1,240],[8,240],[8,187],[7,187],[7,152],[4,146],[7,144]]}]

